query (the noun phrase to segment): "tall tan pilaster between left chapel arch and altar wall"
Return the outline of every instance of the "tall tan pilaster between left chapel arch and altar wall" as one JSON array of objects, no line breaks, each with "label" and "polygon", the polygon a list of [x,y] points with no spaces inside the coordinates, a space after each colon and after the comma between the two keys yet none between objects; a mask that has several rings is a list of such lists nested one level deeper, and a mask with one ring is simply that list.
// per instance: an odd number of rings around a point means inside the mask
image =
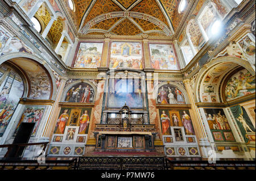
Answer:
[{"label": "tall tan pilaster between left chapel arch and altar wall", "polygon": [[59,112],[60,112],[59,102],[62,98],[65,83],[67,81],[68,81],[67,77],[61,77],[61,82],[60,82],[59,89],[57,90],[55,103],[52,106],[52,110],[48,117],[46,127],[43,130],[43,134],[42,134],[43,137],[49,137],[50,140],[56,125],[57,116],[59,116]]}]

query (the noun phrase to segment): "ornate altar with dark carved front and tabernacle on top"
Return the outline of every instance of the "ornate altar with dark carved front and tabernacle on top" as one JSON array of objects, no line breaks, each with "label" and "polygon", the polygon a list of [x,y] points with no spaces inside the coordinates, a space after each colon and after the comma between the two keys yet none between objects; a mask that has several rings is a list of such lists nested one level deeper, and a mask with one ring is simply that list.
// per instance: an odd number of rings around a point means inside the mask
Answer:
[{"label": "ornate altar with dark carved front and tabernacle on top", "polygon": [[[117,113],[108,113],[109,119],[94,129],[96,151],[155,151],[155,125],[148,124],[130,107],[123,106]],[[117,116],[118,115],[118,116]]]}]

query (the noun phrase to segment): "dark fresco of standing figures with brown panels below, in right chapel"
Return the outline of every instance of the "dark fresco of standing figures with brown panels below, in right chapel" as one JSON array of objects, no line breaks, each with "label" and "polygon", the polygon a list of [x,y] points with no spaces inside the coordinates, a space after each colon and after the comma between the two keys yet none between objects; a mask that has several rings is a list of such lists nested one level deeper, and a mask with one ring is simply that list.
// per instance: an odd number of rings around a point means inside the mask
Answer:
[{"label": "dark fresco of standing figures with brown panels below, in right chapel", "polygon": [[236,141],[228,119],[222,109],[204,109],[207,122],[212,132],[214,141],[233,142]]}]

